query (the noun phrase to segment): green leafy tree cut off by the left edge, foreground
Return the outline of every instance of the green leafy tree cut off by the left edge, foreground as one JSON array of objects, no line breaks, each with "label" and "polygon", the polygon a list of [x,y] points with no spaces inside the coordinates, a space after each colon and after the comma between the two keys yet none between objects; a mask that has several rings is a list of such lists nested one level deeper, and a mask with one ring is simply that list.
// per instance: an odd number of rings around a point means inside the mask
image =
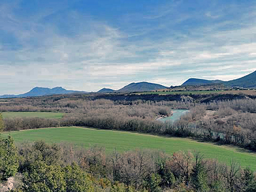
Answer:
[{"label": "green leafy tree cut off by the left edge, foreground", "polygon": [[[1,139],[1,138],[0,138]],[[0,147],[0,172],[2,179],[7,180],[14,176],[18,170],[18,155],[12,137],[1,139]]]}]

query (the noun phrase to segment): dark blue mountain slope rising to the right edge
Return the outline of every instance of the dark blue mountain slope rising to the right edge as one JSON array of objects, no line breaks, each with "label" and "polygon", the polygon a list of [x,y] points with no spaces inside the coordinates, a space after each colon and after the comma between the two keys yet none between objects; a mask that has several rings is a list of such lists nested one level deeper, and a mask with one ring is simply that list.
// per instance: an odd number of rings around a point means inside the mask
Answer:
[{"label": "dark blue mountain slope rising to the right edge", "polygon": [[226,81],[224,84],[228,87],[256,88],[256,71],[239,79]]}]

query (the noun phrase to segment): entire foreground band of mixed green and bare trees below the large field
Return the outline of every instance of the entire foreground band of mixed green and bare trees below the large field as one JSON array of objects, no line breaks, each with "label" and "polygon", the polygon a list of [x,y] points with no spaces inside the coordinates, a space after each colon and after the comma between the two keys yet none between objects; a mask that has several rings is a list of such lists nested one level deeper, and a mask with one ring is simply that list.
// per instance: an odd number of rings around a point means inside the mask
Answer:
[{"label": "entire foreground band of mixed green and bare trees below the large field", "polygon": [[[114,151],[70,144],[23,143],[8,151],[14,177],[12,191],[255,191],[256,176],[249,167],[207,160],[198,152]],[[2,145],[1,145],[2,146]],[[10,151],[10,150],[9,150]],[[15,158],[13,158],[15,157]],[[2,156],[0,160],[3,159]],[[3,164],[1,164],[3,165]],[[0,169],[2,186],[8,177]],[[4,187],[3,187],[4,188]]]}]

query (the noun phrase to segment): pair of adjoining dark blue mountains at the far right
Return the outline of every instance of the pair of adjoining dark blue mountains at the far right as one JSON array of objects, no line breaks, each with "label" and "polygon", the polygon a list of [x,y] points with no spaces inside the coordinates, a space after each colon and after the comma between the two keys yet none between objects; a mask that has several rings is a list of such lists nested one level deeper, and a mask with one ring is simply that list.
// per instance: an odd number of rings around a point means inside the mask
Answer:
[{"label": "pair of adjoining dark blue mountains at the far right", "polygon": [[190,78],[186,80],[182,86],[197,86],[203,84],[212,84],[212,83],[222,83],[227,87],[241,87],[241,88],[256,88],[256,71],[243,76],[238,79],[233,79],[230,81],[222,81],[222,80],[207,80],[207,79],[197,79]]}]

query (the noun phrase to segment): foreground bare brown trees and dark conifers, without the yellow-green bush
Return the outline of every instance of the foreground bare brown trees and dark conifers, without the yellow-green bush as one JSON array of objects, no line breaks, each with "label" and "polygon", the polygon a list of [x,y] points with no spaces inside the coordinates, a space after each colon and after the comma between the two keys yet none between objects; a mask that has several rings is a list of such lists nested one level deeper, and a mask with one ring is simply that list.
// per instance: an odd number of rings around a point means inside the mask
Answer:
[{"label": "foreground bare brown trees and dark conifers, without the yellow-green bush", "polygon": [[[93,182],[91,187],[94,191],[110,191],[117,183],[123,186],[117,185],[121,188],[111,191],[167,191],[170,189],[173,191],[219,191],[218,189],[250,191],[249,189],[255,189],[253,185],[256,178],[249,168],[241,168],[233,161],[226,165],[216,160],[206,160],[198,152],[180,151],[167,155],[154,151],[125,153],[114,151],[106,155],[104,149],[99,146],[92,146],[85,150],[69,144],[48,145],[42,141],[36,141],[33,144],[25,143],[18,147],[19,173],[25,175],[22,178],[23,182],[31,186],[34,178],[31,178],[28,173],[33,173],[34,165],[40,162],[39,165],[42,166],[42,163],[45,163],[46,168],[47,166],[65,168],[74,166],[74,163],[77,164],[83,172],[89,174],[88,179],[90,178]],[[57,171],[59,172],[59,168]],[[24,185],[19,187],[29,188]]]}]

